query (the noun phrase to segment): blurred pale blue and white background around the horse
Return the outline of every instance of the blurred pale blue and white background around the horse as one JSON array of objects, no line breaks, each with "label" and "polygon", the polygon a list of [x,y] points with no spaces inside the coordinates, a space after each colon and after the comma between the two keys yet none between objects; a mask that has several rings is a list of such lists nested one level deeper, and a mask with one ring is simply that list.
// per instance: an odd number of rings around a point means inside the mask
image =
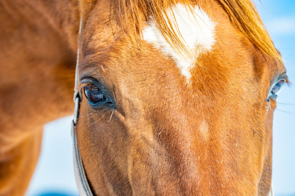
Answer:
[{"label": "blurred pale blue and white background around the horse", "polygon": [[[261,3],[260,3],[261,2]],[[295,1],[256,0],[260,16],[295,83]],[[74,84],[73,84],[74,85]],[[276,196],[295,196],[295,90],[284,87],[273,121],[273,187]],[[44,127],[42,151],[27,196],[77,196],[71,122],[65,117]]]}]

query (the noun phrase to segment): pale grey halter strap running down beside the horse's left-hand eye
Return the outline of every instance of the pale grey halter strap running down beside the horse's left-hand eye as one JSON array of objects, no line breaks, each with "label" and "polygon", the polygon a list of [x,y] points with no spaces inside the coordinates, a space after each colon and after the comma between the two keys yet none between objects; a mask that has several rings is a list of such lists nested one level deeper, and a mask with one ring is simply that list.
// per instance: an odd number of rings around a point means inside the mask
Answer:
[{"label": "pale grey halter strap running down beside the horse's left-hand eye", "polygon": [[[79,26],[79,34],[81,33],[82,29],[82,17],[80,19],[80,26]],[[78,147],[78,141],[77,141],[77,134],[76,134],[76,124],[78,119],[78,113],[79,113],[79,107],[80,107],[80,101],[81,101],[81,91],[78,91],[78,84],[79,84],[79,48],[77,50],[77,63],[76,63],[76,74],[75,74],[75,93],[74,93],[74,102],[75,102],[75,108],[74,108],[74,119],[71,126],[71,134],[73,138],[73,155],[74,155],[74,172],[75,172],[75,178],[76,183],[78,186],[78,190],[81,196],[93,196],[92,191],[90,189],[86,173],[84,170],[80,150]]]}]

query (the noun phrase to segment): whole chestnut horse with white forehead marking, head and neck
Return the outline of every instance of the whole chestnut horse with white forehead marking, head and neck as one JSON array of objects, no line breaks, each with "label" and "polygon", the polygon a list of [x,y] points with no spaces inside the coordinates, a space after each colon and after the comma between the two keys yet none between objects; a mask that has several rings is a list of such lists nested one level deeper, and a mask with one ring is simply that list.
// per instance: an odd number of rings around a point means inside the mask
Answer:
[{"label": "whole chestnut horse with white forehead marking, head and neck", "polygon": [[0,5],[1,196],[24,195],[42,126],[73,94],[81,195],[273,194],[288,77],[253,2]]}]

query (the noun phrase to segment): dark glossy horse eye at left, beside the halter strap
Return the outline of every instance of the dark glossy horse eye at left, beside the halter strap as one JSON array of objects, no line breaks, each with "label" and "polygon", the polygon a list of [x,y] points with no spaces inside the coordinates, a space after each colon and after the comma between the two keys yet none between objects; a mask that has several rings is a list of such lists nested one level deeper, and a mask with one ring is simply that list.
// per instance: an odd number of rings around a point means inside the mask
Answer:
[{"label": "dark glossy horse eye at left, beside the halter strap", "polygon": [[84,94],[92,104],[106,100],[104,94],[102,94],[101,90],[94,84],[87,84],[87,86],[84,87]]}]

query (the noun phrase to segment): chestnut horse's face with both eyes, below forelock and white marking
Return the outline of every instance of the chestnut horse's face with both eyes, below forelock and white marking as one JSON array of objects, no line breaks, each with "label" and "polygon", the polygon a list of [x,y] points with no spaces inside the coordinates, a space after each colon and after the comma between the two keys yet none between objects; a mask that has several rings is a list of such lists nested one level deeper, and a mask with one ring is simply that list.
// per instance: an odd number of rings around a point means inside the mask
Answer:
[{"label": "chestnut horse's face with both eyes, below forelock and white marking", "polygon": [[186,70],[145,34],[137,49],[106,1],[89,14],[77,135],[97,195],[268,194],[285,69],[211,9],[212,46]]}]

